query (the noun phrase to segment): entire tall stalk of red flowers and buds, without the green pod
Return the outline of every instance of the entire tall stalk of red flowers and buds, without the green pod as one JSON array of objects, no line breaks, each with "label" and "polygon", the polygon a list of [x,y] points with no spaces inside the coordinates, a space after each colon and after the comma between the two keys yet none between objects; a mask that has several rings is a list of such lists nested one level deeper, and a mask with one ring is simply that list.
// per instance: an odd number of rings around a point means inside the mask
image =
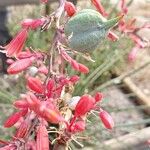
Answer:
[{"label": "entire tall stalk of red flowers and buds, without the green pod", "polygon": [[[41,0],[41,2],[46,3],[47,1]],[[98,0],[91,0],[91,2],[98,10],[97,15],[100,13],[103,17],[108,16]],[[124,7],[123,10],[126,12]],[[8,45],[3,47],[2,52],[10,57],[8,73],[21,74],[23,72],[27,92],[21,94],[20,98],[14,101],[16,112],[4,122],[5,128],[15,126],[16,131],[10,141],[0,141],[3,144],[0,150],[59,150],[63,147],[68,149],[70,141],[79,143],[76,134],[86,129],[87,116],[92,111],[98,112],[106,129],[114,127],[112,117],[100,107],[103,99],[102,93],[72,96],[80,77],[68,76],[65,63],[68,62],[72,69],[84,74],[90,70],[72,58],[72,55],[76,55],[78,52],[76,49],[70,49],[66,44],[74,36],[74,33],[69,37],[64,36],[66,20],[63,23],[60,22],[64,12],[67,21],[78,13],[72,3],[60,0],[57,10],[48,17],[22,21],[21,31]],[[94,11],[90,13],[94,15]],[[123,15],[111,20],[107,25],[112,27],[122,17]],[[105,24],[106,18],[102,21]],[[40,28],[42,32],[48,31],[52,23],[55,24],[55,35],[48,53],[31,48],[24,49],[30,30]],[[120,23],[119,27],[125,32],[123,23]],[[103,26],[104,33],[106,29]],[[103,36],[103,34],[101,35]],[[106,35],[113,41],[118,39],[110,30]],[[130,36],[135,39],[134,35],[130,34]],[[82,42],[81,44],[84,45]],[[11,58],[15,60],[11,60]],[[31,73],[33,66],[34,72]]]}]

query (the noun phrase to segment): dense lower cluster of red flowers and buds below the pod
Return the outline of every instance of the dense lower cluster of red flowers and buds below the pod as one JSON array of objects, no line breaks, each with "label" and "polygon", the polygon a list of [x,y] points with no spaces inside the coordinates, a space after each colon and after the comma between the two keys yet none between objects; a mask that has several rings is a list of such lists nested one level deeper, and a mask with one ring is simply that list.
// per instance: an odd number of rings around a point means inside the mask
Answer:
[{"label": "dense lower cluster of red flowers and buds below the pod", "polygon": [[[68,142],[74,134],[86,129],[86,117],[92,110],[97,112],[99,110],[99,117],[107,129],[113,128],[111,116],[97,106],[103,98],[101,93],[98,92],[94,97],[88,94],[72,97],[73,86],[79,81],[77,75],[72,77],[57,75],[49,78],[47,83],[42,82],[38,75],[27,76],[26,80],[28,92],[14,101],[13,105],[18,111],[4,123],[6,128],[16,126],[12,141],[5,143],[4,148],[15,150],[24,146],[30,147],[29,149],[33,149],[32,147],[38,150],[49,149],[53,141],[49,140],[48,130],[54,132],[51,128],[55,125],[60,126],[57,129],[57,140]],[[33,125],[36,131],[31,133]],[[24,145],[20,139],[26,140],[30,134],[36,136],[36,141],[28,139]]]}]

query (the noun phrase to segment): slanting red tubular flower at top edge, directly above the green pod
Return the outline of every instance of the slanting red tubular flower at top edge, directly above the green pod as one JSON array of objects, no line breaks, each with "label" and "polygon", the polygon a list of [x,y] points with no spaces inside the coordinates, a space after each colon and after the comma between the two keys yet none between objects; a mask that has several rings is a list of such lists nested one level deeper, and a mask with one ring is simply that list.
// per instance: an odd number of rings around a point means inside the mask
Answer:
[{"label": "slanting red tubular flower at top edge, directly above the green pod", "polygon": [[102,16],[107,17],[108,14],[105,12],[103,5],[100,0],[91,0],[92,4],[96,7],[97,11],[102,14]]}]

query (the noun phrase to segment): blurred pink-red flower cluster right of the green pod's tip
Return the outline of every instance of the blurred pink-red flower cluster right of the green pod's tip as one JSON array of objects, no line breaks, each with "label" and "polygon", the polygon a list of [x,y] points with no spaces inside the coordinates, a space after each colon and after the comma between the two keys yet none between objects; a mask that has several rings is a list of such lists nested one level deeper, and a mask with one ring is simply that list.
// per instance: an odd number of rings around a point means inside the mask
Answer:
[{"label": "blurred pink-red flower cluster right of the green pod's tip", "polygon": [[[128,8],[125,0],[120,1],[120,7],[122,10],[122,13],[127,14]],[[139,49],[145,48],[148,46],[147,40],[145,40],[143,37],[138,35],[138,32],[143,29],[149,29],[150,24],[144,23],[141,27],[136,26],[136,19],[133,18],[131,20],[121,20],[118,24],[118,29],[121,33],[127,34],[127,36],[133,41],[135,46],[132,48],[128,55],[129,61],[134,61],[136,59],[137,52]]]}]

